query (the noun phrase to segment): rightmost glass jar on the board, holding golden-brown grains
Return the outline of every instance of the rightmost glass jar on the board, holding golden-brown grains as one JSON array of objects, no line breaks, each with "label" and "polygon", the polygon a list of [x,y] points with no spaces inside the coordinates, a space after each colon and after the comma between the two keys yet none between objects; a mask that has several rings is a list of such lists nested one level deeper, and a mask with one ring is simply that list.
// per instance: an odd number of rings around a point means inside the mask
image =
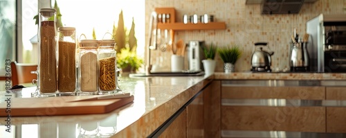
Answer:
[{"label": "rightmost glass jar on the board, holding golden-brown grains", "polygon": [[98,94],[116,92],[115,40],[102,40],[98,48]]}]

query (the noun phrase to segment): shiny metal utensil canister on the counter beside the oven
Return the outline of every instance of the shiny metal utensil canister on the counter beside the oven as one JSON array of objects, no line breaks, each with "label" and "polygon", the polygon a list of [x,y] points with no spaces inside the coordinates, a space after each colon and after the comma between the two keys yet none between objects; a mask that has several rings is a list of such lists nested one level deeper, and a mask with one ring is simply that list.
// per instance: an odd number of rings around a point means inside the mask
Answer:
[{"label": "shiny metal utensil canister on the counter beside the oven", "polygon": [[293,42],[289,65],[291,71],[309,71],[309,53],[306,42]]}]

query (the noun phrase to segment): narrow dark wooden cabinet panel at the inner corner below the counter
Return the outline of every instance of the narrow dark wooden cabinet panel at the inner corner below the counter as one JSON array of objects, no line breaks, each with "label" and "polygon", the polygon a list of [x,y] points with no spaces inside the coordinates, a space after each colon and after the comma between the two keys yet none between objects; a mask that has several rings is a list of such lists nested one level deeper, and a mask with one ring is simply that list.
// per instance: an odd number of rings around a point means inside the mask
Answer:
[{"label": "narrow dark wooden cabinet panel at the inner corner below the counter", "polygon": [[204,94],[204,137],[221,137],[221,81],[214,80]]}]

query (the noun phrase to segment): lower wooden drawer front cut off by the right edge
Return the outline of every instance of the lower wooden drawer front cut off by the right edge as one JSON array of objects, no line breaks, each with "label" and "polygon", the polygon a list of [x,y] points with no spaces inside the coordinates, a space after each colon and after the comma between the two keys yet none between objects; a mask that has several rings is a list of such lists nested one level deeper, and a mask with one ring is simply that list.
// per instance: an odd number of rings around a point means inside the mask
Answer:
[{"label": "lower wooden drawer front cut off by the right edge", "polygon": [[327,107],[327,132],[346,132],[345,107]]}]

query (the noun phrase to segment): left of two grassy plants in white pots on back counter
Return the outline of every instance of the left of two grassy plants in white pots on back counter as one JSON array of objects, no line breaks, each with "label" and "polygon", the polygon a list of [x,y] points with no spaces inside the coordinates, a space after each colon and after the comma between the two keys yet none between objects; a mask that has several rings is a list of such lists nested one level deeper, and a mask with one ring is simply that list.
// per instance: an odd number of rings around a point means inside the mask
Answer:
[{"label": "left of two grassy plants in white pots on back counter", "polygon": [[203,53],[206,60],[202,60],[205,74],[213,74],[215,71],[216,61],[214,60],[217,52],[217,46],[210,44],[210,46],[203,47]]}]

